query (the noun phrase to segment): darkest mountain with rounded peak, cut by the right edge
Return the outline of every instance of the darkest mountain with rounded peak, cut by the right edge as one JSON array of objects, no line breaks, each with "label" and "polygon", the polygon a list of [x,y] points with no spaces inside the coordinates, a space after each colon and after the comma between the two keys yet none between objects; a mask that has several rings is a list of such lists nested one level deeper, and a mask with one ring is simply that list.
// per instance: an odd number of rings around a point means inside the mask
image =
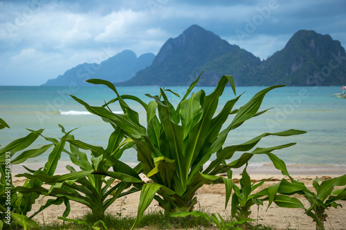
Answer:
[{"label": "darkest mountain with rounded peak, cut by the right edge", "polygon": [[313,30],[299,30],[282,50],[257,67],[252,81],[266,86],[339,86],[346,82],[345,59],[340,41]]}]

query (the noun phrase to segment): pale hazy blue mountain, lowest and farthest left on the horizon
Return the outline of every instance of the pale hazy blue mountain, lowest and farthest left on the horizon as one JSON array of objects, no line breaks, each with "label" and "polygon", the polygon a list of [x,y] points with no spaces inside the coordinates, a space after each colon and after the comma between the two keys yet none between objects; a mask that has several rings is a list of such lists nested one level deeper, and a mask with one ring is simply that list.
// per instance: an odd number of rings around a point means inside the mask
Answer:
[{"label": "pale hazy blue mountain, lowest and farthest left on the horizon", "polygon": [[147,53],[137,58],[131,50],[123,50],[117,55],[102,61],[100,64],[80,64],[67,70],[63,75],[50,79],[42,86],[69,86],[76,83],[78,86],[91,86],[86,79],[98,78],[109,82],[124,82],[143,68],[150,66],[155,55]]}]

